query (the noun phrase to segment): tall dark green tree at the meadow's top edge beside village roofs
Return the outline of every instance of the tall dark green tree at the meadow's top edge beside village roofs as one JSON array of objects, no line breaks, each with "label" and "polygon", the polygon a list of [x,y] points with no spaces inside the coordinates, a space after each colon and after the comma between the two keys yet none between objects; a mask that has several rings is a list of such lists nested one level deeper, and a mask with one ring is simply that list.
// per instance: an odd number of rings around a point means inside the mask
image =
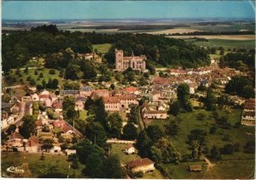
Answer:
[{"label": "tall dark green tree at the meadow's top edge beside village roofs", "polygon": [[186,83],[177,87],[177,100],[183,110],[191,111],[192,105],[189,102],[189,86]]}]

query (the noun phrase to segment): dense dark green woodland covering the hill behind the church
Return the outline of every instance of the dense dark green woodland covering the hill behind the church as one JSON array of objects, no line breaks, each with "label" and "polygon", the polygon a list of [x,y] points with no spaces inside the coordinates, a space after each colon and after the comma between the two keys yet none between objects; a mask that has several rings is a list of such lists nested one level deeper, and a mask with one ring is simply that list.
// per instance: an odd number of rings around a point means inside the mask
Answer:
[{"label": "dense dark green woodland covering the hill behind the church", "polygon": [[[145,54],[148,59],[160,65],[198,67],[210,64],[204,48],[172,38],[148,34],[98,34],[80,31],[58,31],[55,25],[43,25],[31,31],[12,31],[3,34],[3,71],[26,65],[32,57],[48,59],[53,53],[63,53],[71,48],[74,53],[91,53],[92,44],[112,43],[105,55],[108,64],[114,63],[114,48],[124,50],[125,55]],[[66,66],[70,59],[58,62]],[[64,67],[63,67],[64,68]]]}]

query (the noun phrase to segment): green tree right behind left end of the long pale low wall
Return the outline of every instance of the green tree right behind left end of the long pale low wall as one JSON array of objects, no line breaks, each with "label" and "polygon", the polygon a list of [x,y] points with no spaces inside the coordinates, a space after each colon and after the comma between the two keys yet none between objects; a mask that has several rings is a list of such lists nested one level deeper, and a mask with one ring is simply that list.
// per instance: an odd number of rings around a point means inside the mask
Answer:
[{"label": "green tree right behind left end of the long pale low wall", "polygon": [[109,138],[120,138],[123,120],[118,113],[108,115],[107,131]]}]

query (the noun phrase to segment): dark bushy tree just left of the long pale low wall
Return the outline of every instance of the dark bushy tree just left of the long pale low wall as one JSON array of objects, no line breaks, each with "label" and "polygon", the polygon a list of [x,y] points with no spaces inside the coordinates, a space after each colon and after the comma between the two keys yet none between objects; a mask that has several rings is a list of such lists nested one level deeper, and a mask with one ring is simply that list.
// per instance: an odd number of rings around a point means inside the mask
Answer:
[{"label": "dark bushy tree just left of the long pale low wall", "polygon": [[85,136],[90,139],[92,143],[96,143],[100,147],[104,147],[106,145],[107,133],[98,122],[88,123],[85,130]]}]

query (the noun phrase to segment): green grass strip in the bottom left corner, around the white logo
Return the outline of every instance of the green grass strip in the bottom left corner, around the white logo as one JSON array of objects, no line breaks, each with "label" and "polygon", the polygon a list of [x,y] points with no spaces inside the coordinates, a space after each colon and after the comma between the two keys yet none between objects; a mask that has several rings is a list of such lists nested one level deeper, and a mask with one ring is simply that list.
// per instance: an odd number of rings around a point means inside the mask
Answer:
[{"label": "green grass strip in the bottom left corner, around the white logo", "polygon": [[41,155],[26,154],[26,153],[2,153],[2,172],[6,173],[9,166],[20,166],[23,163],[28,163],[29,170],[32,172],[30,177],[38,177],[44,172],[47,172],[52,166],[56,166],[62,173],[67,173],[69,176],[83,177],[81,175],[83,165],[79,163],[79,169],[69,169],[67,156],[63,155],[44,155],[45,159],[40,160]]}]

